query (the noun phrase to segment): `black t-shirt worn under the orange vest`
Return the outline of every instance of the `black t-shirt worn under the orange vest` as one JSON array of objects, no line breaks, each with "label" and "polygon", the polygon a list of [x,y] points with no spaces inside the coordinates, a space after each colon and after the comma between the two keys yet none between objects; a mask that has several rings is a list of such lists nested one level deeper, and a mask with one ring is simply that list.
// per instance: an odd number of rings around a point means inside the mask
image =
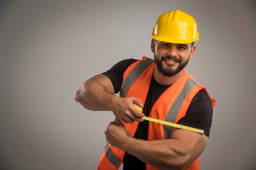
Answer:
[{"label": "black t-shirt worn under the orange vest", "polygon": [[[115,93],[118,93],[121,89],[121,84],[123,82],[123,74],[126,69],[135,61],[136,59],[126,59],[115,64],[110,70],[102,74],[110,78]],[[145,116],[150,113],[155,101],[158,97],[171,85],[161,85],[155,81],[154,76],[152,76],[146,101],[143,107]],[[212,102],[208,94],[202,89],[200,90],[192,99],[186,116],[180,119],[178,124],[191,126],[198,129],[203,129],[204,134],[209,137],[211,122],[212,122]],[[134,138],[138,139],[148,139],[148,121],[140,122]],[[125,153],[124,155],[124,170],[146,170],[146,163],[142,162],[138,158]]]}]

